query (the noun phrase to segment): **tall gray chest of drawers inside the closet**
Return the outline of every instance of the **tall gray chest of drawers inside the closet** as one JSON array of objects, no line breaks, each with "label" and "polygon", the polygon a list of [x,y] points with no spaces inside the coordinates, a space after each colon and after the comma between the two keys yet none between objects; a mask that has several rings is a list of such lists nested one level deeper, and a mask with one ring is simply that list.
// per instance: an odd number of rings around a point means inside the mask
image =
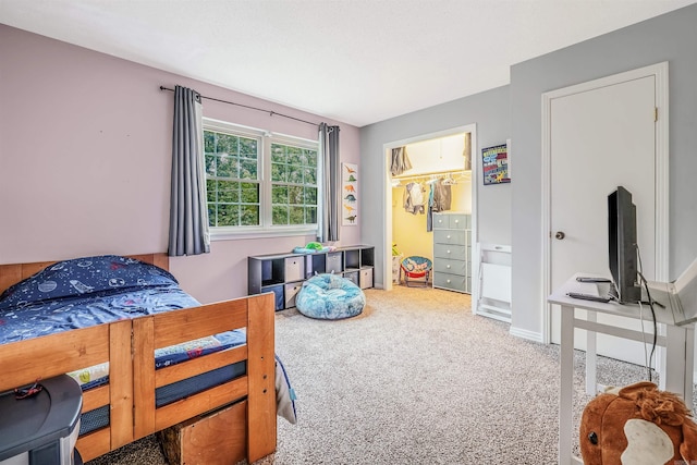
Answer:
[{"label": "tall gray chest of drawers inside the closet", "polygon": [[433,213],[433,287],[472,292],[472,216]]}]

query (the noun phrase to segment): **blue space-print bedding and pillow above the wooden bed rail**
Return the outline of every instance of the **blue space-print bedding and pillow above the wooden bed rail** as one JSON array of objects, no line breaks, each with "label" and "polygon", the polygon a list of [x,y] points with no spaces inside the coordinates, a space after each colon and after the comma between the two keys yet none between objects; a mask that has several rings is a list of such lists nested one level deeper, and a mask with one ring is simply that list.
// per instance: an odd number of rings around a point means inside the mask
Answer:
[{"label": "blue space-print bedding and pillow above the wooden bed rail", "polygon": [[0,295],[0,344],[199,305],[154,265],[115,255],[65,260]]}]

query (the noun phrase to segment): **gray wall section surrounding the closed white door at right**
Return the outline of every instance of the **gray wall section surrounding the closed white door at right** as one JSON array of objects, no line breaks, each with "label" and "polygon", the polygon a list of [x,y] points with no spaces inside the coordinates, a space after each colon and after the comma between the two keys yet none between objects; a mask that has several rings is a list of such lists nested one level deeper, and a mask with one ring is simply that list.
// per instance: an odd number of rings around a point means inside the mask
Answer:
[{"label": "gray wall section surrounding the closed white door at right", "polygon": [[[697,256],[697,4],[511,68],[513,327],[542,331],[541,95],[668,61],[670,278]],[[589,181],[589,186],[591,186]],[[573,208],[573,206],[570,206]]]}]

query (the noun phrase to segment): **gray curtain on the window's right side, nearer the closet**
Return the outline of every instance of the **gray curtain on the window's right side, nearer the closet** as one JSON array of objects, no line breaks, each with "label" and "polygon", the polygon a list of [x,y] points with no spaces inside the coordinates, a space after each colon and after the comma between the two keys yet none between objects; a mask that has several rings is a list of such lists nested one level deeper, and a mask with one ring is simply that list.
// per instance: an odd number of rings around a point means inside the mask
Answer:
[{"label": "gray curtain on the window's right side, nearer the closet", "polygon": [[323,173],[319,195],[322,199],[322,211],[318,219],[318,242],[339,241],[339,198],[341,185],[339,176],[339,126],[319,125],[319,170]]}]

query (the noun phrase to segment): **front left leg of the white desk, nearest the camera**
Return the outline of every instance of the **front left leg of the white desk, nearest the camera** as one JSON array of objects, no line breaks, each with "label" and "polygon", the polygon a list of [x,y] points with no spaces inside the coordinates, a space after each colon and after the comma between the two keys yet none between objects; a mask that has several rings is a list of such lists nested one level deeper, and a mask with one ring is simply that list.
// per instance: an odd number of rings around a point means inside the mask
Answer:
[{"label": "front left leg of the white desk, nearest the camera", "polygon": [[574,463],[571,437],[574,420],[574,307],[562,305],[561,386],[559,395],[559,463]]}]

